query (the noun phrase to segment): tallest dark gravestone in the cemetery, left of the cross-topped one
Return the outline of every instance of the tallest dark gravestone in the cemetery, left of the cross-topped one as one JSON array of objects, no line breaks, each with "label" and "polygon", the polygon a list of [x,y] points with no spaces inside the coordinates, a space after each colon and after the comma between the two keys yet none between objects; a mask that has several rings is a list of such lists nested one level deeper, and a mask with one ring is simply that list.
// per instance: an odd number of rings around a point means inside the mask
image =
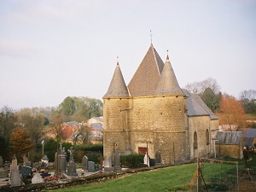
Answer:
[{"label": "tallest dark gravestone in the cemetery, left of the cross-topped one", "polygon": [[67,154],[65,148],[62,148],[60,143],[60,148],[55,153],[55,176],[62,176],[67,174]]}]

